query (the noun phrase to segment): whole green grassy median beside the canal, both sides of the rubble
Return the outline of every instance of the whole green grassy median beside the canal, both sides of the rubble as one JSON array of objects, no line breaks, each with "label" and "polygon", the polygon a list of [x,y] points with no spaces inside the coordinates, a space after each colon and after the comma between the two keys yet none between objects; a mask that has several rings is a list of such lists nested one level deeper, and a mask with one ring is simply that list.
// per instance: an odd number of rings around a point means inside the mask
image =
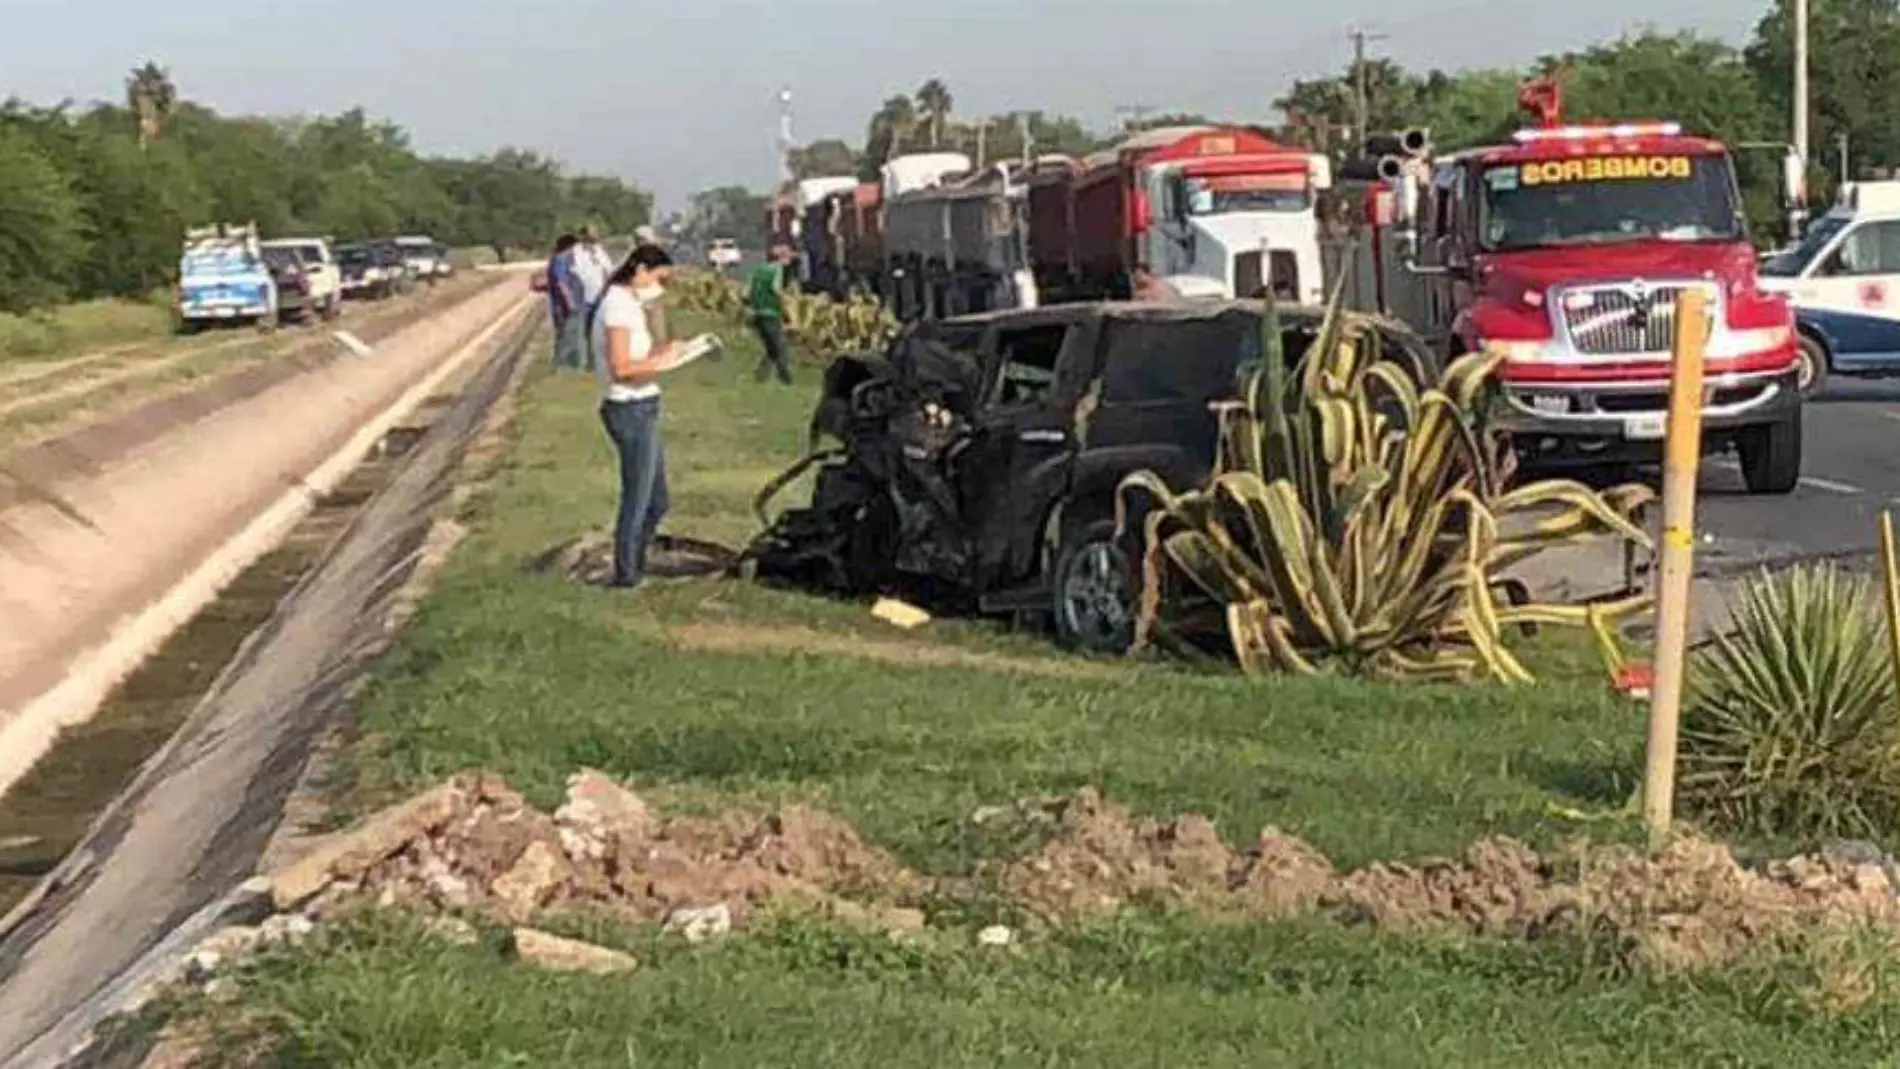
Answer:
[{"label": "whole green grassy median beside the canal, both sides of the rubble", "polygon": [[[669,528],[733,545],[817,378],[756,384],[735,342],[667,393]],[[528,568],[610,516],[591,382],[538,368],[513,433],[363,701],[348,811],[469,767],[551,807],[585,765],[661,809],[823,807],[927,873],[1028,849],[978,835],[975,809],[1085,784],[1142,816],[1205,813],[1231,843],[1277,824],[1341,868],[1628,832],[1577,822],[1623,803],[1642,744],[1585,644],[1545,640],[1526,689],[1246,682],[716,579],[625,596]],[[638,972],[557,978],[386,915],[268,959],[220,1014],[281,1063],[390,1067],[1875,1065],[1900,1031],[1890,987],[1826,1012],[1794,961],[1661,980],[1586,940],[1161,911],[998,951],[973,946],[988,919],[933,915],[942,938],[916,946],[796,921],[707,947],[597,928]]]}]

